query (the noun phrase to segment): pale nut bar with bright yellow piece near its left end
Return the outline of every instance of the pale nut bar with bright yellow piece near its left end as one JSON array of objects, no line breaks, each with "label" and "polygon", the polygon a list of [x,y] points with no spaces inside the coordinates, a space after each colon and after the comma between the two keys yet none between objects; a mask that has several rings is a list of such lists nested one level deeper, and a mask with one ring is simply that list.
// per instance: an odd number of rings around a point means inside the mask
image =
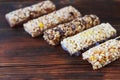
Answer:
[{"label": "pale nut bar with bright yellow piece near its left end", "polygon": [[53,28],[60,23],[71,21],[79,16],[81,16],[81,14],[78,10],[72,6],[67,6],[25,23],[24,29],[32,37],[37,37],[43,34],[46,29]]}]

